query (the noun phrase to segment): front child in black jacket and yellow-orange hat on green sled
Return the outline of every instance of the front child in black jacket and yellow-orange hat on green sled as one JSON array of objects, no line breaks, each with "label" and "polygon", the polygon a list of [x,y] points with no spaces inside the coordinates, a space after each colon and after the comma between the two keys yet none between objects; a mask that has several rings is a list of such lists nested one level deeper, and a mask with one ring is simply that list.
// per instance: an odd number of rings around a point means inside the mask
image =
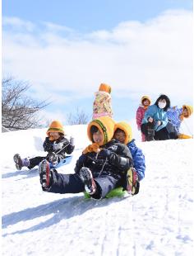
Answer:
[{"label": "front child in black jacket and yellow-orange hat on green sled", "polygon": [[95,199],[104,198],[120,187],[132,165],[132,154],[126,145],[113,138],[114,121],[101,116],[90,121],[87,133],[92,145],[76,161],[75,173],[62,174],[49,168],[47,160],[39,164],[42,189],[53,193],[88,192]]}]

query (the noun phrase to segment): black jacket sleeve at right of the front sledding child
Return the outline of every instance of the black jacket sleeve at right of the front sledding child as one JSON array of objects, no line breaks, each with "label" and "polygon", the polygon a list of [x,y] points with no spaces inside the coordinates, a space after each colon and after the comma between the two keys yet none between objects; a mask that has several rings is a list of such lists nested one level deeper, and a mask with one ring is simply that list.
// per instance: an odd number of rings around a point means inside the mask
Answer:
[{"label": "black jacket sleeve at right of the front sledding child", "polygon": [[127,145],[119,143],[116,152],[112,152],[108,159],[110,164],[116,166],[122,171],[127,171],[132,167],[132,154],[127,148]]}]

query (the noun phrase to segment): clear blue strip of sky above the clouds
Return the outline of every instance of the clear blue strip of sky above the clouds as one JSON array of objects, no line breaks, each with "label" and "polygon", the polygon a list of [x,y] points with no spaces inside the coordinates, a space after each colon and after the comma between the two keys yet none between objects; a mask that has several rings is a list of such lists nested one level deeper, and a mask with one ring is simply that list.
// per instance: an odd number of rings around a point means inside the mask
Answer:
[{"label": "clear blue strip of sky above the clouds", "polygon": [[121,21],[146,21],[168,9],[192,10],[191,0],[2,0],[2,15],[49,21],[81,32],[111,29]]}]

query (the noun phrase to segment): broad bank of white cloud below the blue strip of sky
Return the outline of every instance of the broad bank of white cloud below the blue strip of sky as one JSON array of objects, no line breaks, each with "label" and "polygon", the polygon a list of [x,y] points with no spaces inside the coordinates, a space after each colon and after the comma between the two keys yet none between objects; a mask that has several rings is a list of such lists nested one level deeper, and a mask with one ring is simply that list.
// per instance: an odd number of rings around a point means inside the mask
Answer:
[{"label": "broad bank of white cloud below the blue strip of sky", "polygon": [[[17,27],[27,23],[2,21]],[[174,104],[191,103],[192,12],[168,11],[145,23],[122,22],[111,31],[88,35],[66,30],[62,36],[57,33],[62,28],[48,22],[36,33],[5,27],[3,73],[30,81],[37,93],[47,85],[48,95],[54,90],[60,97],[67,90],[76,97],[90,95],[105,82],[118,97],[128,94],[138,102],[141,94],[156,98],[165,93]]]}]

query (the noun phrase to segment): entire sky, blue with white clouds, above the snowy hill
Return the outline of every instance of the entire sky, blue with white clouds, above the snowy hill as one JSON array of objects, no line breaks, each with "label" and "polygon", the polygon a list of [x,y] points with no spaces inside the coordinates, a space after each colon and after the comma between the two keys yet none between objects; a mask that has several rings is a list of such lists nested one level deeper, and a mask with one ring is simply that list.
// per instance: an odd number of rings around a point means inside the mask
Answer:
[{"label": "entire sky, blue with white clouds, above the snowy hill", "polygon": [[145,94],[192,104],[191,52],[190,0],[2,1],[2,75],[50,98],[49,120],[91,116],[99,83],[112,86],[116,121],[134,124]]}]

